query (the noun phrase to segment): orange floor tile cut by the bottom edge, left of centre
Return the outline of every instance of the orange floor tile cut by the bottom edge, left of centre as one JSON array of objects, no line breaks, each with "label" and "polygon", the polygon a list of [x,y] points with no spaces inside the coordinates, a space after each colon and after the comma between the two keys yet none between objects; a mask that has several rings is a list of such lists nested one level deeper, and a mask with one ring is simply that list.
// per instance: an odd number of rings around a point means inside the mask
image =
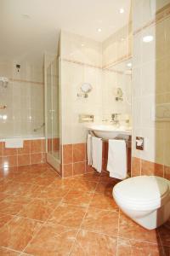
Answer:
[{"label": "orange floor tile cut by the bottom edge, left of centre", "polygon": [[25,252],[35,256],[68,255],[77,230],[58,224],[45,224],[26,247]]}]

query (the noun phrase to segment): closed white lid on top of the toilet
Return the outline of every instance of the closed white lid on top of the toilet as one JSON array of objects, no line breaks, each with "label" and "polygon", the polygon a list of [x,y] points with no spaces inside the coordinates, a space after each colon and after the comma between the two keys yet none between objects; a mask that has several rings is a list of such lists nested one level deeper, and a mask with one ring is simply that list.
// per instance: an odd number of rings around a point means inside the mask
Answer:
[{"label": "closed white lid on top of the toilet", "polygon": [[123,201],[149,204],[169,193],[167,180],[156,176],[130,177],[117,183],[113,193]]}]

